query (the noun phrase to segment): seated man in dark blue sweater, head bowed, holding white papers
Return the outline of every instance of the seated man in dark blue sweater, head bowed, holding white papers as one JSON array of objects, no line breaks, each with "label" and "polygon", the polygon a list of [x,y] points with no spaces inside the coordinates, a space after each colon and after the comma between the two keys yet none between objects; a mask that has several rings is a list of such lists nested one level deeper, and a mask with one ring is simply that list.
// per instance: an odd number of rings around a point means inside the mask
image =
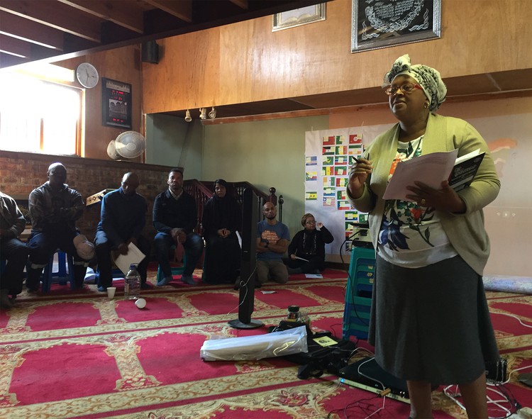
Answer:
[{"label": "seated man in dark blue sweater, head bowed, holding white papers", "polygon": [[146,255],[138,264],[137,270],[140,274],[140,288],[150,288],[146,284],[150,242],[142,235],[148,204],[142,195],[137,194],[138,185],[138,176],[126,173],[122,177],[120,189],[109,192],[101,200],[100,222],[94,238],[100,272],[98,291],[106,291],[113,284],[111,250],[127,255],[129,243],[133,243]]}]

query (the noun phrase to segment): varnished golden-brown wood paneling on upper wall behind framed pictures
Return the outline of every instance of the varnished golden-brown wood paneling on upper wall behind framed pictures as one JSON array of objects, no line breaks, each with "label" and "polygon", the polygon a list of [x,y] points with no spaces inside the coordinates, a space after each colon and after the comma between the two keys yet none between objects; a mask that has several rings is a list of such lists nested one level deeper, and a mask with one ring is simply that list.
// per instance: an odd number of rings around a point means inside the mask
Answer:
[{"label": "varnished golden-brown wood paneling on upper wall behind framed pictures", "polygon": [[[532,16],[530,0],[442,0],[441,39],[354,54],[351,0],[330,1],[326,8],[326,21],[275,33],[266,16],[167,38],[159,65],[143,65],[144,111],[380,86],[384,72],[405,53],[444,77],[532,67],[532,26],[523,18]],[[199,40],[209,44],[201,48]]]}]

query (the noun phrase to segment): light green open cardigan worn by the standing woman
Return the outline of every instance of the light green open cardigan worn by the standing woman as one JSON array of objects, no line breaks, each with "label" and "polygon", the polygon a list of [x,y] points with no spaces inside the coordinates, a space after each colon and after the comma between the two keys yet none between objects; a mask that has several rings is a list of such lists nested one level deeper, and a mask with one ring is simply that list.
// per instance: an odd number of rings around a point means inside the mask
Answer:
[{"label": "light green open cardigan worn by the standing woman", "polygon": [[[370,213],[370,234],[375,249],[384,211],[382,195],[386,190],[389,169],[397,154],[398,138],[399,123],[372,141],[364,153],[365,158],[373,163],[372,174],[367,177],[364,192],[360,198],[353,199],[348,189],[351,204],[358,211]],[[458,192],[465,203],[465,213],[438,211],[438,216],[451,245],[475,272],[482,275],[489,257],[489,238],[484,229],[482,208],[497,198],[501,183],[492,155],[478,131],[462,119],[431,113],[428,116],[421,154],[451,151],[455,148],[459,149],[459,157],[477,148],[486,152],[486,155],[472,184]]]}]

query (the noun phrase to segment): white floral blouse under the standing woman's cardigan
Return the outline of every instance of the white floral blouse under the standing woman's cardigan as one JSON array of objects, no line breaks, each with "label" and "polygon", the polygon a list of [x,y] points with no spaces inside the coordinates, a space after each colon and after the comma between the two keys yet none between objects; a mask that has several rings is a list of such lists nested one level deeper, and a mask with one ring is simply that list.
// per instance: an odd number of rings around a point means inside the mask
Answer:
[{"label": "white floral blouse under the standing woman's cardigan", "polygon": [[[399,141],[388,181],[399,162],[421,155],[422,143],[423,135],[409,143]],[[378,247],[379,256],[387,262],[409,268],[424,267],[458,255],[434,208],[399,199],[389,199],[384,205]]]}]

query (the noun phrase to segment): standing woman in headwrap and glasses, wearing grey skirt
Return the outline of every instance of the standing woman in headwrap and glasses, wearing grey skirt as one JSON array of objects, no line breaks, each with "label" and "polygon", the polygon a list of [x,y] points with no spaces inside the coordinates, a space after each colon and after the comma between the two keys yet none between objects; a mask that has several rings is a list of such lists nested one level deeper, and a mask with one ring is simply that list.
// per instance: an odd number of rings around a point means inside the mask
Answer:
[{"label": "standing woman in headwrap and glasses, wearing grey skirt", "polygon": [[[492,156],[466,121],[439,116],[447,88],[440,73],[399,57],[384,76],[399,120],[353,165],[350,201],[370,213],[376,250],[369,341],[377,363],[406,379],[413,419],[432,418],[431,384],[459,384],[468,418],[487,419],[485,362],[499,353],[489,320],[482,271],[489,239],[482,208],[499,193]],[[472,184],[455,192],[408,187],[409,201],[382,195],[397,163],[458,148],[486,152]]]}]

